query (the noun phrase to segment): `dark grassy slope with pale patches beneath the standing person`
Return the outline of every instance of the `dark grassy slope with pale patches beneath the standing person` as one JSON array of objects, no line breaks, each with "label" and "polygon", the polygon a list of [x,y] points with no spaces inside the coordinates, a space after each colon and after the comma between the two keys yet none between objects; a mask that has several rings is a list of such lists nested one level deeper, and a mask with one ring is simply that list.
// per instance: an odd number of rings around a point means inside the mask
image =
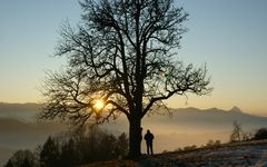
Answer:
[{"label": "dark grassy slope with pale patches beneath the standing person", "polygon": [[81,167],[267,167],[267,140],[224,144],[216,147],[110,160]]}]

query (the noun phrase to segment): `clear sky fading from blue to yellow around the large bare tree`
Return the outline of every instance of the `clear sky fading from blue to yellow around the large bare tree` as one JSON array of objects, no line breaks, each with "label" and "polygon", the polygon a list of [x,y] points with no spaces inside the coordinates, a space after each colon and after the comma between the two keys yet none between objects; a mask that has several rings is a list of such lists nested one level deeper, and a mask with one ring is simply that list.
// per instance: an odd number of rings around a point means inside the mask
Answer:
[{"label": "clear sky fading from blue to yellow around the large bare tree", "polygon": [[[267,1],[175,0],[189,13],[178,58],[207,65],[214,91],[172,97],[169,107],[230,109],[267,116]],[[80,20],[77,0],[0,0],[0,101],[41,102],[60,26]]]}]

